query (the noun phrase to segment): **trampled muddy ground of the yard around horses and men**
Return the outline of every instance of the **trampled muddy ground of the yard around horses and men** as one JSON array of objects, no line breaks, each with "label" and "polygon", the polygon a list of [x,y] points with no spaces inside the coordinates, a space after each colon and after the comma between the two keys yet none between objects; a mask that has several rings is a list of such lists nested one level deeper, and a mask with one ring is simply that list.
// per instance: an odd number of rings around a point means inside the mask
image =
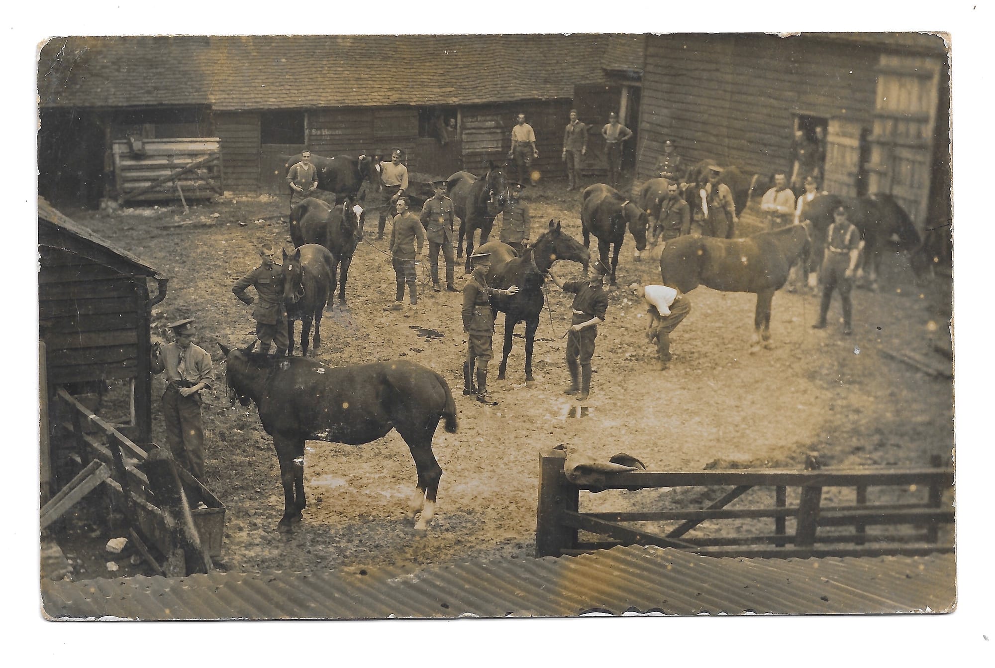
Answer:
[{"label": "trampled muddy ground of the yard around horses and men", "polygon": [[[545,184],[531,189],[529,204],[533,238],[556,219],[580,239],[577,193],[563,192],[561,183]],[[929,455],[951,453],[951,381],[881,352],[930,356],[940,366],[944,360],[931,345],[944,340],[949,345],[949,279],[916,286],[903,258],[886,260],[880,293],[855,291],[852,336],[843,336],[842,325],[833,320],[840,317],[838,297],[831,327],[819,332],[810,329],[818,299],[781,291],[773,304],[775,345],[755,354],[749,353],[755,298],[698,288],[690,295],[693,313],[672,337],[675,360],[661,371],[645,339],[645,311],[625,289],[633,282],[659,282],[659,250],[637,263],[629,237],[619,288],[610,292],[608,319],[599,328],[589,412],[572,418],[569,409],[577,401],[561,393],[568,379],[561,338],[569,325],[568,296],[550,286],[550,309],[535,345],[536,386],[524,385],[523,338],[516,335],[506,381],[494,379],[497,359],[493,362],[490,380],[500,403],[483,406],[460,392],[466,345],[462,296],[429,289],[413,312],[385,311],[393,301],[393,272],[373,246],[386,243],[367,234],[370,243],[360,244],[349,274],[348,305],[326,312],[317,357],[342,365],[401,356],[448,380],[460,426],[456,434],[441,428],[436,434],[435,452],[445,472],[436,519],[425,538],[416,537],[404,521],[415,473],[396,433],[358,447],[308,441],[304,521],[293,535],[281,535],[283,494],[272,442],[255,406],[227,406],[217,343],[253,340],[252,309],[232,295],[231,286],[257,264],[259,242],[283,244],[286,212],[285,198],[269,197],[227,197],[189,214],[178,206],[66,210],[170,277],[168,295],[153,311],[153,336],[169,340],[166,323],[195,317],[195,341],[214,357],[218,384],[205,397],[212,405],[204,407],[206,484],[228,507],[224,568],[532,557],[539,453],[560,443],[604,460],[624,451],[654,470],[800,468],[812,451],[824,466],[917,466]],[[376,214],[367,218],[367,232],[375,230]],[[427,259],[419,271],[427,280]],[[580,276],[582,269],[561,262],[553,271],[567,278]],[[496,354],[499,340],[496,336]],[[161,390],[162,379],[156,378],[156,397]],[[153,439],[164,443],[157,400],[153,406]],[[662,502],[667,495],[659,491],[606,492],[585,497],[582,508],[650,508]],[[112,537],[98,542],[106,538]]]}]

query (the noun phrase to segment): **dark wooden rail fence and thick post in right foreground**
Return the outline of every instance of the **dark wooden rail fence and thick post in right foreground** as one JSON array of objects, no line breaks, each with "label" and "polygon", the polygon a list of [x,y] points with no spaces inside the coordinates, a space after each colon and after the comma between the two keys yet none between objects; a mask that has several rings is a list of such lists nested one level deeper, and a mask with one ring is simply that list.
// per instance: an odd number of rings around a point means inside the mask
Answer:
[{"label": "dark wooden rail fence and thick post in right foreground", "polygon": [[[919,469],[867,467],[820,470],[818,459],[810,455],[805,471],[634,471],[605,474],[595,484],[583,485],[576,485],[567,479],[564,462],[565,453],[561,450],[551,450],[540,456],[536,557],[576,555],[617,545],[678,548],[711,557],[765,558],[917,556],[953,551],[952,532],[944,532],[943,540],[940,540],[940,526],[954,522],[952,504],[944,502],[944,492],[952,491],[953,470],[941,466],[939,458],[933,458],[930,467]],[[732,489],[702,509],[618,513],[579,511],[579,493],[585,490],[729,486]],[[911,500],[907,503],[871,503],[868,499],[869,488],[877,487],[903,487]],[[825,488],[854,488],[855,503],[825,505]],[[758,508],[726,508],[754,489],[758,492],[750,494],[750,498],[766,501],[765,505]],[[792,505],[788,505],[789,491],[792,492]],[[770,500],[773,506],[769,505]],[[712,521],[716,520],[741,522],[750,519],[771,520],[773,533],[713,536],[710,533],[706,535],[700,527],[705,522],[711,527]],[[787,531],[789,521],[794,522],[793,534]],[[680,524],[669,531],[658,529],[663,523],[674,522]],[[653,523],[653,529],[632,523]],[[895,528],[903,526],[903,531],[895,531]],[[887,533],[877,530],[881,527],[887,528]],[[876,528],[878,533],[871,533],[870,528]],[[596,535],[596,539],[579,541],[578,533],[581,531]],[[836,545],[828,547],[827,544]]]}]

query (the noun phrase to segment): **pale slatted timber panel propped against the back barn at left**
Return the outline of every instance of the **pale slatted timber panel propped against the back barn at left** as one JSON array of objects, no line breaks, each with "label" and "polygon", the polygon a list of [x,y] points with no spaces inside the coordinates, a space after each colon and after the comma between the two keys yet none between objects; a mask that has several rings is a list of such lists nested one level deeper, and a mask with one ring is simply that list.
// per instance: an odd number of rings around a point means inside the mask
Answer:
[{"label": "pale slatted timber panel propped against the back barn at left", "polygon": [[114,183],[120,202],[206,199],[222,194],[217,137],[113,142]]}]

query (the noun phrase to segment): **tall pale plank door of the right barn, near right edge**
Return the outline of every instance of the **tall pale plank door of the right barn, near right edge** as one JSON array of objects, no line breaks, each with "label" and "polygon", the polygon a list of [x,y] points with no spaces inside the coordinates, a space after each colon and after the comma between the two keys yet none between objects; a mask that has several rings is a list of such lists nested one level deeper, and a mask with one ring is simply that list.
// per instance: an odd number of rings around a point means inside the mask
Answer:
[{"label": "tall pale plank door of the right barn, near right edge", "polygon": [[878,66],[870,191],[891,193],[920,230],[929,206],[940,70],[928,56],[883,54]]}]

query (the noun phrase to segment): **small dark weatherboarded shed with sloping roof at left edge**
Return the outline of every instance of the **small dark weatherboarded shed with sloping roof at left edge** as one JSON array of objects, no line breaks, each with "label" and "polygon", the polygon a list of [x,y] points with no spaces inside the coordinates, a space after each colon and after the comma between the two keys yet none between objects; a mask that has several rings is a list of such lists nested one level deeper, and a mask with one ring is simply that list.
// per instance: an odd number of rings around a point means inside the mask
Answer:
[{"label": "small dark weatherboarded shed with sloping roof at left edge", "polygon": [[[149,315],[165,298],[168,279],[41,197],[38,246],[40,362],[49,396],[64,385],[122,384],[127,414],[114,426],[137,443],[149,442]],[[157,282],[151,298],[148,279]]]}]

